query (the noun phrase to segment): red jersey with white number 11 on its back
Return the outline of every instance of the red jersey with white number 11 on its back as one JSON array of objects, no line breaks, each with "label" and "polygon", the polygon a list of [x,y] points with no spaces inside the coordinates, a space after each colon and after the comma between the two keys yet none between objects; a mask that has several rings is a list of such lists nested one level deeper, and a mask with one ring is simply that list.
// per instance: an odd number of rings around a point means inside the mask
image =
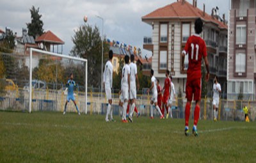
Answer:
[{"label": "red jersey with white number 11 on its back", "polygon": [[204,40],[200,35],[189,36],[184,50],[188,54],[188,79],[201,78],[202,57],[207,56]]}]

